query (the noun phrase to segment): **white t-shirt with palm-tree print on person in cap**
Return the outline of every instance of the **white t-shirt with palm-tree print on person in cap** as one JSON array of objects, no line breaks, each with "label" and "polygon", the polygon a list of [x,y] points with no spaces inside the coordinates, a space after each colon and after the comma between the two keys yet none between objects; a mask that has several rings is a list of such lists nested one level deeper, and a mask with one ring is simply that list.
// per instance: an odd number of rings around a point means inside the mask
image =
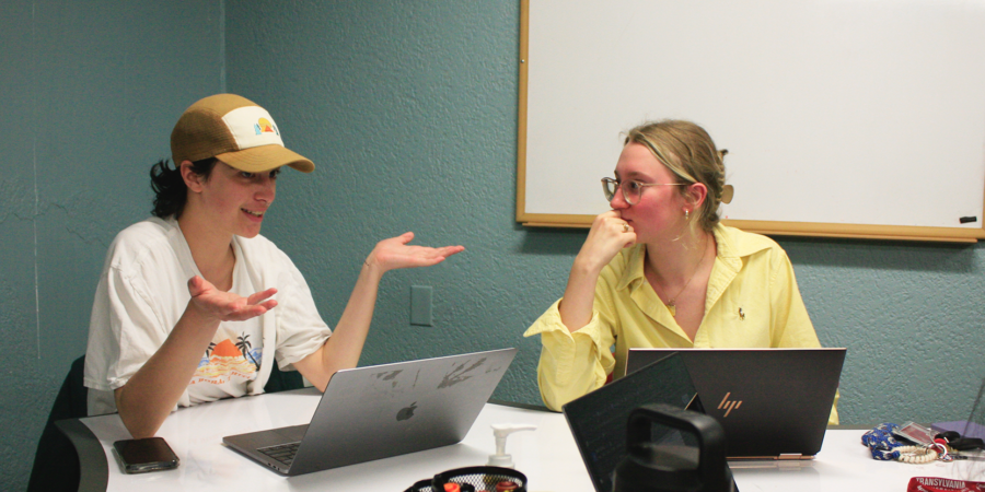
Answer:
[{"label": "white t-shirt with palm-tree print on person in cap", "polygon": [[[233,237],[233,292],[277,288],[278,306],[250,321],[220,324],[178,407],[264,390],[276,360],[281,370],[316,351],[332,331],[290,258],[263,236]],[[85,352],[89,414],[116,411],[113,391],[164,343],[201,276],[173,219],[149,219],[120,232],[106,254]],[[273,348],[273,350],[270,350]]]}]

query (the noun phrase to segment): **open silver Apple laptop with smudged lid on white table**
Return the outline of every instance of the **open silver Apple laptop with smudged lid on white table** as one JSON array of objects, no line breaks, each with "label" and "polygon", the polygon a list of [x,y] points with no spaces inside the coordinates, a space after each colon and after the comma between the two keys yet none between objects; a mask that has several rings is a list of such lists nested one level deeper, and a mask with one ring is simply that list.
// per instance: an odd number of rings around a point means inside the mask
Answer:
[{"label": "open silver Apple laptop with smudged lid on white table", "polygon": [[311,423],[222,442],[287,476],[455,444],[515,354],[500,349],[339,371]]}]

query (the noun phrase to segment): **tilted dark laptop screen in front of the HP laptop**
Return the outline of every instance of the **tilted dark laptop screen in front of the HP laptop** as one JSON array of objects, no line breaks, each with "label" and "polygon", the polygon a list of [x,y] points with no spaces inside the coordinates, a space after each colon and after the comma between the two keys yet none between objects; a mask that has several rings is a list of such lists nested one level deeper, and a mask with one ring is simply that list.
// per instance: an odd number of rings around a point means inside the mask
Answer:
[{"label": "tilted dark laptop screen in front of the HP laptop", "polygon": [[683,360],[669,354],[565,405],[565,418],[595,490],[612,490],[612,472],[626,457],[626,424],[635,408],[649,403],[686,408],[695,396]]}]

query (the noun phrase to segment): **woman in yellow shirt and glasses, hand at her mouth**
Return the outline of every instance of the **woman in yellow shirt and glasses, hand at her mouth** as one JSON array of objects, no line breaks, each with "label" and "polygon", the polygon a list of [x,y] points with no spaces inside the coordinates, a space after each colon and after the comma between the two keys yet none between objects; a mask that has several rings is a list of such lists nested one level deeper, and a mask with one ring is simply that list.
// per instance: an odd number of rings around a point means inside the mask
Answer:
[{"label": "woman in yellow shirt and glasses, hand at her mouth", "polygon": [[564,297],[524,333],[541,335],[547,407],[622,375],[629,348],[821,347],[783,248],[719,223],[726,152],[690,121],[628,132],[602,180],[612,210],[592,223]]}]

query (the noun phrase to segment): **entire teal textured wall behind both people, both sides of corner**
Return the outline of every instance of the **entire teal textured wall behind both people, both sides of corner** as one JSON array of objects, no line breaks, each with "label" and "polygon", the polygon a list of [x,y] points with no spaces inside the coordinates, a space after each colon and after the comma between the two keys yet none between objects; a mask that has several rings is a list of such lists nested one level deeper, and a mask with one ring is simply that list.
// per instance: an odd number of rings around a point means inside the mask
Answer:
[{"label": "entire teal textured wall behind both people, both sides of corner", "polygon": [[[376,241],[409,230],[418,244],[467,248],[384,278],[361,363],[518,347],[496,397],[538,400],[540,341],[521,333],[561,294],[586,232],[513,221],[518,2],[225,9],[223,32],[222,2],[0,7],[3,489],[26,483],[24,443],[85,349],[106,246],[147,216],[150,164],[167,155],[181,112],[223,77],[318,166],[282,175],[264,234],[305,273],[326,321]],[[983,246],[780,244],[822,343],[849,349],[844,423],[967,414],[985,376]],[[410,285],[433,288],[433,327],[409,324]]]}]

